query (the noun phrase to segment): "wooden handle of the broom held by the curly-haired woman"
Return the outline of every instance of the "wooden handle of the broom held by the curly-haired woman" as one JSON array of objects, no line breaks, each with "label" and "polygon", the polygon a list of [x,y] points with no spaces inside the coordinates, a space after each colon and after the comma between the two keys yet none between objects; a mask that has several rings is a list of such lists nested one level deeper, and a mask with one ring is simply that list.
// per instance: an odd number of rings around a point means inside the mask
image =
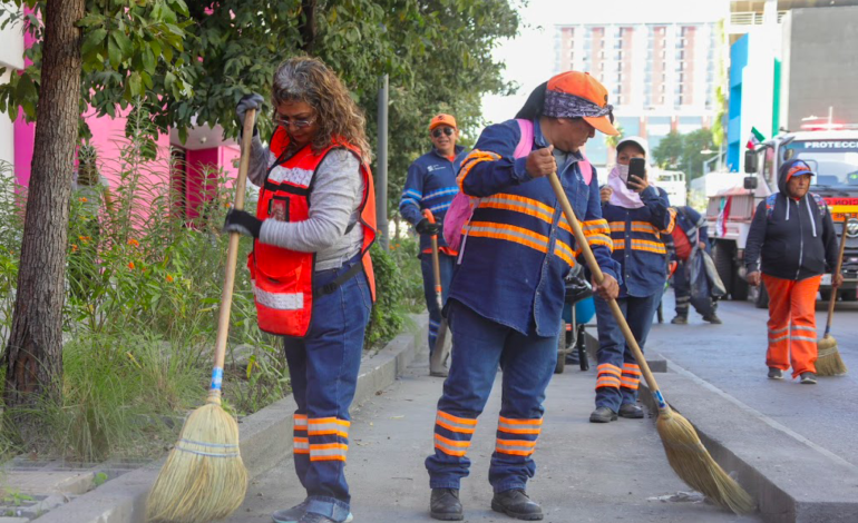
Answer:
[{"label": "wooden handle of the broom held by the curly-haired woman", "polygon": [[[247,185],[247,169],[251,161],[251,142],[253,141],[253,125],[256,120],[256,109],[247,109],[244,115],[242,135],[242,159],[238,164],[238,179],[235,182],[235,210],[244,210],[244,193]],[[226,249],[226,273],[224,288],[221,294],[221,314],[217,318],[217,341],[215,342],[215,363],[212,373],[212,388],[208,402],[221,404],[221,384],[224,361],[226,359],[226,341],[230,337],[230,313],[233,306],[233,287],[235,286],[235,267],[238,262],[238,239],[241,233],[230,233],[230,246]],[[220,376],[217,374],[220,373]],[[215,377],[217,376],[217,378]]]}]

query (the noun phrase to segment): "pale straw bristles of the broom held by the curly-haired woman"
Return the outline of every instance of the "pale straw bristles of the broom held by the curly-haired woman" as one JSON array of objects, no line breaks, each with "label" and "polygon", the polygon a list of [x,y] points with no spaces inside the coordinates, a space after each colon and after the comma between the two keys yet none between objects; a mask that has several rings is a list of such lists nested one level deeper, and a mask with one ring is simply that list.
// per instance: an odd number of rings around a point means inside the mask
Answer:
[{"label": "pale straw bristles of the broom held by the curly-haired woman", "polygon": [[149,492],[148,521],[207,523],[241,506],[247,471],[238,453],[238,424],[208,403],[188,416]]}]

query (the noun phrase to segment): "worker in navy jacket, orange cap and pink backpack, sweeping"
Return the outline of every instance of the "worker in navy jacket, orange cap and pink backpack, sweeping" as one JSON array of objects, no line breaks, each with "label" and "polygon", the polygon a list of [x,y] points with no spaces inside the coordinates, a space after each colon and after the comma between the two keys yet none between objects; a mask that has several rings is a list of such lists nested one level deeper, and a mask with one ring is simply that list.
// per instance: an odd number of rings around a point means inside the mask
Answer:
[{"label": "worker in navy jacket, orange cap and pink backpack, sweeping", "polygon": [[[498,365],[504,397],[489,466],[491,509],[524,520],[543,516],[525,489],[536,472],[543,401],[557,362],[564,277],[578,250],[546,176],[557,172],[605,273],[595,290],[616,296],[618,265],[611,258],[598,184],[579,152],[595,129],[616,135],[610,115],[607,91],[597,80],[562,73],[537,87],[518,114],[524,124],[486,128],[462,161],[461,190],[479,200],[464,227],[446,305],[455,348],[438,402],[435,453],[426,460],[435,519],[464,517],[459,484],[468,475],[468,447]],[[516,158],[525,128],[533,130],[530,152]]]}]

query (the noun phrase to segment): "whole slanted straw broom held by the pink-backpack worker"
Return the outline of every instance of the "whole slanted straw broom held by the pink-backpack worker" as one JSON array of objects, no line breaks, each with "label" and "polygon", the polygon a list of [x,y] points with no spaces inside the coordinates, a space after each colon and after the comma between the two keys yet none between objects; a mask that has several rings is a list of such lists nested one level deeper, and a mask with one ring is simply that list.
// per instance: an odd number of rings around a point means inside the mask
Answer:
[{"label": "whole slanted straw broom held by the pink-backpack worker", "polygon": [[[581,224],[577,218],[575,218],[575,213],[572,210],[572,206],[569,205],[568,198],[566,198],[566,193],[563,190],[557,174],[552,172],[548,176],[548,180],[563,207],[566,220],[572,226],[575,235],[575,243],[582,249],[587,266],[593,273],[596,283],[602,284],[605,276],[596,264],[593,250],[591,250],[587,239],[584,237]],[[719,505],[729,509],[737,514],[754,511],[755,505],[751,495],[748,494],[739,483],[730,477],[712,458],[703,446],[703,443],[701,443],[694,427],[691,426],[691,423],[675,413],[667,405],[667,402],[664,401],[664,396],[662,396],[659,385],[655,383],[655,377],[652,372],[650,372],[650,366],[646,364],[641,347],[637,346],[637,342],[635,341],[632,330],[628,328],[628,324],[626,323],[622,310],[620,310],[620,306],[615,299],[610,299],[608,305],[611,306],[614,319],[616,319],[616,323],[623,330],[623,336],[625,336],[628,347],[632,349],[635,359],[637,359],[641,373],[646,379],[650,391],[652,391],[655,401],[659,403],[659,420],[656,421],[655,426],[662,438],[664,452],[667,454],[667,462],[671,464],[671,467],[673,467],[674,472],[676,472],[682,481],[688,483],[694,490],[702,492]]]}]

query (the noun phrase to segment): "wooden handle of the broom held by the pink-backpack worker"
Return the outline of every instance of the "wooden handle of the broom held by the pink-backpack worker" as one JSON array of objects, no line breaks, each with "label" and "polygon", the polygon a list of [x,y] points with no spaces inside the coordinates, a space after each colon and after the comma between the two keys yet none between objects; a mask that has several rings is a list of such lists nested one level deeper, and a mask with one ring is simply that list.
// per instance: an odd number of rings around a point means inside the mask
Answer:
[{"label": "wooden handle of the broom held by the pink-backpack worker", "polygon": [[[581,250],[584,254],[584,259],[587,263],[587,267],[589,267],[589,272],[593,273],[593,277],[595,278],[596,283],[602,285],[602,282],[605,279],[605,275],[602,274],[602,269],[596,263],[596,257],[593,256],[593,250],[589,248],[587,238],[584,236],[584,230],[582,230],[581,224],[575,217],[575,211],[572,210],[572,205],[569,205],[569,199],[566,197],[566,191],[563,190],[560,180],[557,178],[557,172],[552,172],[548,175],[548,181],[552,182],[552,188],[554,189],[554,194],[557,196],[557,200],[560,203],[563,214],[566,215],[566,221],[568,221],[572,226],[572,231],[575,236],[575,243],[578,245],[578,247],[581,247]],[[625,316],[623,316],[623,312],[620,309],[620,305],[617,305],[616,299],[614,298],[608,299],[607,303],[611,306],[611,313],[614,315],[614,319],[616,320],[617,325],[620,325],[620,329],[623,332],[623,336],[625,336],[628,348],[632,349],[632,354],[634,354],[635,359],[637,359],[637,365],[641,367],[641,374],[643,374],[644,379],[646,379],[646,384],[650,386],[650,389],[653,393],[653,396],[655,396],[655,399],[659,402],[659,409],[669,409],[670,407],[667,406],[666,402],[664,402],[664,398],[659,391],[659,384],[655,382],[655,376],[653,376],[653,373],[650,371],[650,366],[646,364],[646,359],[644,358],[641,347],[637,345],[637,341],[634,338],[634,334],[632,334],[632,329],[628,328],[628,323],[625,320]]]}]

